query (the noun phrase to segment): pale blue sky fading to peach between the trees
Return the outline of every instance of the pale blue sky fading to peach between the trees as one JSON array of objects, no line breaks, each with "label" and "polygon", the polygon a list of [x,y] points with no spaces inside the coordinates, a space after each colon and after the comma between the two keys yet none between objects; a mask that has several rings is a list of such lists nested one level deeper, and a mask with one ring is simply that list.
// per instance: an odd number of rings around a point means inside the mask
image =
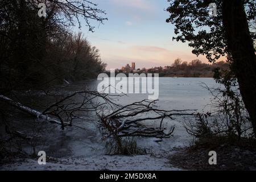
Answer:
[{"label": "pale blue sky fading to peach between the trees", "polygon": [[121,69],[136,63],[136,68],[171,65],[179,57],[190,62],[204,56],[192,54],[188,43],[172,41],[174,25],[166,23],[167,0],[93,0],[106,11],[104,24],[92,22],[94,32],[82,26],[85,38],[100,50],[106,69]]}]

